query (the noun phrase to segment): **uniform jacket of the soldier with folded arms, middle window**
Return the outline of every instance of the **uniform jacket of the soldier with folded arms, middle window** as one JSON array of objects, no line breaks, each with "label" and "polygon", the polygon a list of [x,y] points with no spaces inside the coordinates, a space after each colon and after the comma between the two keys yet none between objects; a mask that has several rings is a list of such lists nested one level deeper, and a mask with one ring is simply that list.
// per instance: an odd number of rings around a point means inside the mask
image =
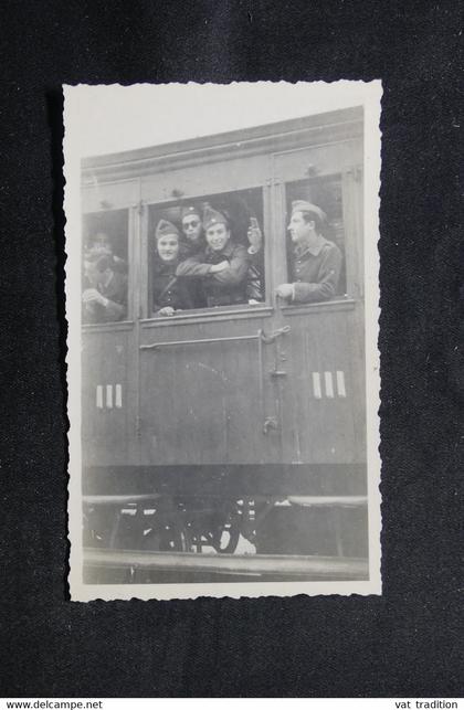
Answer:
[{"label": "uniform jacket of the soldier with folded arms, middle window", "polygon": [[[221,274],[211,274],[211,266],[228,261],[230,269]],[[208,307],[245,304],[250,267],[250,255],[242,244],[229,241],[222,252],[214,252],[209,246],[203,252],[181,262],[177,267],[179,276],[202,278]]]}]

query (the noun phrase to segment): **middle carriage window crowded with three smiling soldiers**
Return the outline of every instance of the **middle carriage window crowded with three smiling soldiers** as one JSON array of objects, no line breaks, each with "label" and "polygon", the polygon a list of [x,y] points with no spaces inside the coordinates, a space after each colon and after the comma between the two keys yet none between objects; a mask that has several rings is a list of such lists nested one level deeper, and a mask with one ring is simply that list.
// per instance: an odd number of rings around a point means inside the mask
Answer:
[{"label": "middle carriage window crowded with three smiling soldiers", "polygon": [[152,205],[148,230],[154,317],[264,301],[260,189]]}]

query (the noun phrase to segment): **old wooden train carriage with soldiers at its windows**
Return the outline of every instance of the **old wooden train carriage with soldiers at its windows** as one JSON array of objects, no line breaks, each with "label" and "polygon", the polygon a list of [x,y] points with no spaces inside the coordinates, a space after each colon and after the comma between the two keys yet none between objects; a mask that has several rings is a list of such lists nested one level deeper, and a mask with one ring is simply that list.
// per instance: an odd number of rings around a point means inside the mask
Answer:
[{"label": "old wooden train carriage with soldiers at its windows", "polygon": [[[362,167],[362,108],[83,161],[84,242],[127,268],[124,318],[82,326],[87,580],[367,579]],[[342,253],[330,300],[276,296],[294,200]],[[261,300],[152,312],[192,203],[260,224]]]}]

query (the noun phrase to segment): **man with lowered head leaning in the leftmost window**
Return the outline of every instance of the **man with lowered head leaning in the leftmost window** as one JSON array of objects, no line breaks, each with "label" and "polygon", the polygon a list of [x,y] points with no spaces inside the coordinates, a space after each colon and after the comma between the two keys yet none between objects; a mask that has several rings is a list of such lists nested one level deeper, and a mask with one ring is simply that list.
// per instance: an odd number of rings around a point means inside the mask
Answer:
[{"label": "man with lowered head leaning in the leftmost window", "polygon": [[113,256],[88,256],[84,262],[83,322],[122,320],[127,310],[127,277]]}]

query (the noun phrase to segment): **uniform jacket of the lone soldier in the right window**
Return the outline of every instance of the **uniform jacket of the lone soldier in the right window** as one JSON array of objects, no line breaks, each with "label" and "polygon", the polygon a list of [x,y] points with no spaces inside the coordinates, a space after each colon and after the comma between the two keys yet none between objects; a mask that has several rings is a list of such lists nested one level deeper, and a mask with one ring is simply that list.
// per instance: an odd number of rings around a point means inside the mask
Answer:
[{"label": "uniform jacket of the lone soldier in the right window", "polygon": [[338,246],[324,237],[316,247],[295,250],[292,259],[293,303],[307,304],[334,298],[341,261]]}]

